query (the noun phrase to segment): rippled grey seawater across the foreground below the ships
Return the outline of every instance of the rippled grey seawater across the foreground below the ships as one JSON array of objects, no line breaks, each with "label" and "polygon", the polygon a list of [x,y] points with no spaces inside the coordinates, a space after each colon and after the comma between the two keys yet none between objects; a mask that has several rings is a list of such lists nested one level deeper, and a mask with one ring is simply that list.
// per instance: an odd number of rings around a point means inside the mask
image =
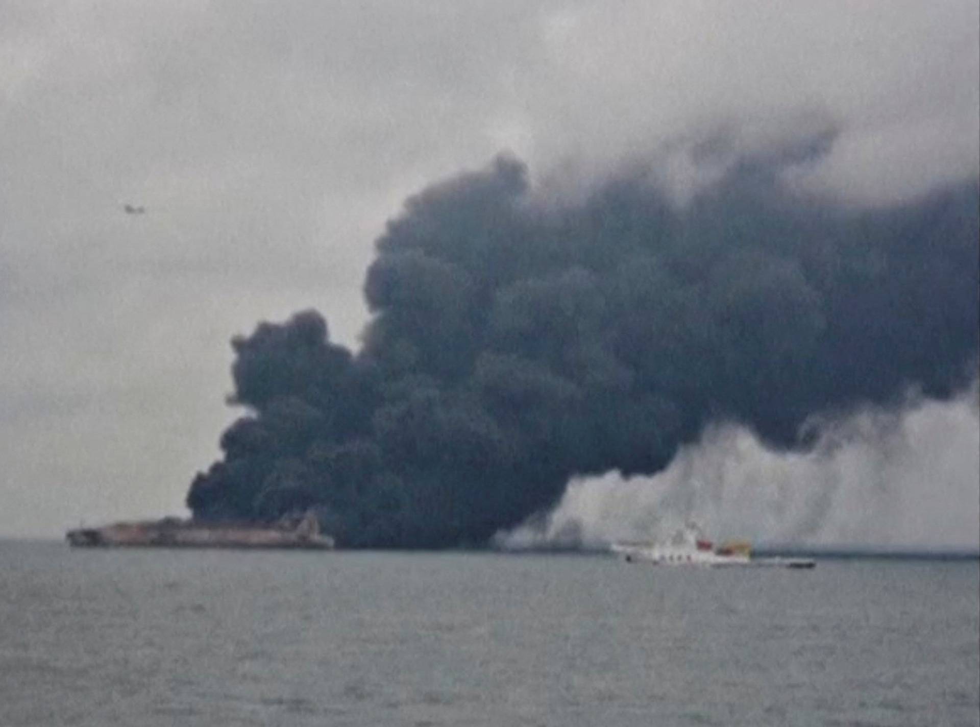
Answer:
[{"label": "rippled grey seawater across the foreground below the ships", "polygon": [[0,543],[0,725],[977,725],[976,561]]}]

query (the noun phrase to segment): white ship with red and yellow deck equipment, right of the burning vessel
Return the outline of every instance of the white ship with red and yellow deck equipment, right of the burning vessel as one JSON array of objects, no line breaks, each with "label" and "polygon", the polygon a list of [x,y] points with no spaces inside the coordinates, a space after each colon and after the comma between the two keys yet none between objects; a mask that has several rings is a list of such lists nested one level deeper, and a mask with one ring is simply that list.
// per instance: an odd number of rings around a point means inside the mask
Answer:
[{"label": "white ship with red and yellow deck equipment, right of the burning vessel", "polygon": [[733,565],[770,565],[787,568],[812,568],[816,562],[809,558],[752,557],[752,545],[731,541],[715,545],[701,534],[697,525],[689,523],[665,542],[613,543],[613,553],[626,562],[646,562],[653,565],[702,565],[712,568]]}]

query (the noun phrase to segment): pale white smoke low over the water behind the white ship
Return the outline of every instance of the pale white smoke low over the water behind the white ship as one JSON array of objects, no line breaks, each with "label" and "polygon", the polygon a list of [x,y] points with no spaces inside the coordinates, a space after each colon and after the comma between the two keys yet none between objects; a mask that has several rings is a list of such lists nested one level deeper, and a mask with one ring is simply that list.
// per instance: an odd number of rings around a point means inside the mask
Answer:
[{"label": "pale white smoke low over the water behind the white ship", "polygon": [[874,548],[980,548],[977,388],[898,414],[826,424],[809,452],[766,449],[711,427],[655,476],[574,478],[547,517],[501,533],[504,548],[659,539],[684,522],[714,538]]}]

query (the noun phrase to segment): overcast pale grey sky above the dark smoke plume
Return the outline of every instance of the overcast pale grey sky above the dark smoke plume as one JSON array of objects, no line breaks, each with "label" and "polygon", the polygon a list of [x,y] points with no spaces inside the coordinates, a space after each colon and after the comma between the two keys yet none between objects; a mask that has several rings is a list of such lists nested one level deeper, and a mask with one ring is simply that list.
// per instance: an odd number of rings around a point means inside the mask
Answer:
[{"label": "overcast pale grey sky above the dark smoke plume", "polygon": [[315,307],[356,346],[385,220],[502,150],[567,194],[699,134],[827,127],[810,192],[977,176],[978,21],[975,0],[5,0],[0,536],[183,512],[235,416],[230,336]]}]

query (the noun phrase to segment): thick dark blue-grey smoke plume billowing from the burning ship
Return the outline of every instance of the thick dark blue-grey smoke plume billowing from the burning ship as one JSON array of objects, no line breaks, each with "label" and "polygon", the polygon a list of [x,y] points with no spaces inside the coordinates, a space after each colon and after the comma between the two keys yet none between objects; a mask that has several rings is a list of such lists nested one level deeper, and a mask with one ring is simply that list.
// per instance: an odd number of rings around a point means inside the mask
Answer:
[{"label": "thick dark blue-grey smoke plume billowing from the burning ship", "polygon": [[801,449],[816,421],[969,386],[977,182],[851,209],[787,191],[799,161],[743,158],[684,205],[650,170],[545,204],[507,158],[422,191],[377,241],[360,352],[312,311],[233,340],[247,414],[188,506],[316,507],[351,547],[480,544],[709,425]]}]

